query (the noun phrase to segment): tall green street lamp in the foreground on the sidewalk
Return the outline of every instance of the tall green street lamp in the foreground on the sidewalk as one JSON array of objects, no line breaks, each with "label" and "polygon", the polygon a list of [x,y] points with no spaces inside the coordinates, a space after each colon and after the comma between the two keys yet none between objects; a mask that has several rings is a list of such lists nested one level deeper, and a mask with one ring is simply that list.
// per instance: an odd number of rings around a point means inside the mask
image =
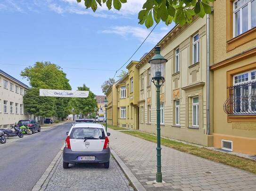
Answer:
[{"label": "tall green street lamp in the foreground on the sidewalk", "polygon": [[161,171],[161,132],[160,132],[160,87],[165,82],[165,63],[166,59],[160,54],[161,48],[157,44],[155,47],[155,55],[149,61],[152,72],[152,82],[157,89],[157,183],[162,183]]}]

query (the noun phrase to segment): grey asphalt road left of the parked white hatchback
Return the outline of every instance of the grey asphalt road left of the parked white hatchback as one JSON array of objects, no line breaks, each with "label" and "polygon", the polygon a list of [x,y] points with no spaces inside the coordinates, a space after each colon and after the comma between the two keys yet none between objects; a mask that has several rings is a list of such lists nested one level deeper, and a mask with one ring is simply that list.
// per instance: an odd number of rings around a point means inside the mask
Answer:
[{"label": "grey asphalt road left of the parked white hatchback", "polygon": [[[0,145],[0,191],[31,191],[64,145],[71,123]],[[7,140],[8,141],[8,140]]]}]

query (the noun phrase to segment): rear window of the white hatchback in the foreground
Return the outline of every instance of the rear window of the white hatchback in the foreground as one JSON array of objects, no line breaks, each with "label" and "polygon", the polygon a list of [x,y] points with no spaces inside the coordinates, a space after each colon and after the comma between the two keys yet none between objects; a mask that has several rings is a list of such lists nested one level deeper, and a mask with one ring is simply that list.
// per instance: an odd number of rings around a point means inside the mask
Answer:
[{"label": "rear window of the white hatchback in the foreground", "polygon": [[98,138],[105,139],[105,133],[102,128],[73,128],[70,133],[71,139]]}]

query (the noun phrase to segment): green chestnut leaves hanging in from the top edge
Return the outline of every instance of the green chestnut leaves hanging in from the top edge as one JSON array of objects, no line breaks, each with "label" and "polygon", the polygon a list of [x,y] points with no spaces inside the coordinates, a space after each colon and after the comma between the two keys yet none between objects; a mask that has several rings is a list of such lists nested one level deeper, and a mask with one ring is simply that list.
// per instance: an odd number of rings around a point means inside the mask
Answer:
[{"label": "green chestnut leaves hanging in from the top edge", "polygon": [[[185,23],[191,23],[192,17],[198,15],[203,18],[205,14],[211,13],[210,2],[215,0],[145,0],[142,10],[138,14],[140,24],[145,24],[150,28],[154,21],[159,23],[165,22],[169,25],[173,21],[181,26]],[[81,0],[77,0],[78,3]],[[110,10],[113,6],[116,10],[120,10],[122,3],[127,0],[84,0],[86,8],[91,8],[95,12],[99,6],[106,3],[107,8]],[[154,20],[153,20],[154,18]]]}]

